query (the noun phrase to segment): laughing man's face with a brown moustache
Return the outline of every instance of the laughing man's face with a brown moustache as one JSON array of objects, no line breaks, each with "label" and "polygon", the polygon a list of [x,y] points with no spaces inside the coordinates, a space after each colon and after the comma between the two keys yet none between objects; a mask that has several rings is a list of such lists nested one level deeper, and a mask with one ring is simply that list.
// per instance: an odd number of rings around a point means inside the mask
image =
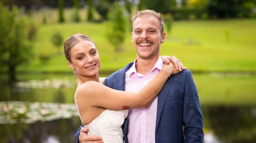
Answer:
[{"label": "laughing man's face with a brown moustache", "polygon": [[164,43],[166,34],[161,33],[159,20],[150,15],[138,17],[133,23],[132,41],[137,58],[159,56],[160,45]]}]

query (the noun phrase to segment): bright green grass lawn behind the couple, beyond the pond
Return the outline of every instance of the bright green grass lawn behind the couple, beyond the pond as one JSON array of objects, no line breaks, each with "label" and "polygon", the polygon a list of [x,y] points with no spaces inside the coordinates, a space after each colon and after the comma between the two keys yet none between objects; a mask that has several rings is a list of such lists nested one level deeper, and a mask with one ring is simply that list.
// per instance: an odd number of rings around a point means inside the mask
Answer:
[{"label": "bright green grass lawn behind the couple, beyond the pond", "polygon": [[[131,42],[131,29],[127,27],[123,51],[116,53],[108,42],[107,22],[86,22],[86,11],[81,10],[82,21],[71,22],[72,10],[65,10],[66,22],[57,23],[57,11],[33,12],[32,19],[38,27],[31,63],[20,65],[18,72],[71,72],[63,47],[61,53],[51,43],[51,36],[60,31],[64,39],[74,33],[89,35],[97,45],[102,67],[100,71],[115,71],[133,62],[136,52]],[[42,15],[47,24],[42,24]],[[99,15],[95,16],[96,19]],[[129,30],[128,30],[129,29]],[[199,72],[256,72],[256,19],[174,21],[171,31],[166,31],[166,41],[161,45],[161,55],[174,55],[191,71]],[[42,63],[39,54],[50,60]]]}]

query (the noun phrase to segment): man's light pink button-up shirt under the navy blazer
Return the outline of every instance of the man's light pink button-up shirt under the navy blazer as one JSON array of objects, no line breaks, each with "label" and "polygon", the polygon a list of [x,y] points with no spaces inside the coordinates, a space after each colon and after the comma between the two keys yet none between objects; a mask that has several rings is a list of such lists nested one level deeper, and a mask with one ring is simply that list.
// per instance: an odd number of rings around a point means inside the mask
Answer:
[{"label": "man's light pink button-up shirt under the navy blazer", "polygon": [[[139,92],[163,68],[159,57],[153,69],[142,75],[136,70],[137,59],[125,73],[125,91]],[[129,110],[128,141],[129,143],[154,143],[157,113],[157,97],[146,107]]]}]

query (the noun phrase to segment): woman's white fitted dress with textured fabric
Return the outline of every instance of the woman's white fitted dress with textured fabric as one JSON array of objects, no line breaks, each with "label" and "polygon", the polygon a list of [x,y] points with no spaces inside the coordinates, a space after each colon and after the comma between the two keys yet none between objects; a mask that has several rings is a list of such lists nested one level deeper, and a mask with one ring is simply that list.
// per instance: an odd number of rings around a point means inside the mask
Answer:
[{"label": "woman's white fitted dress with textured fabric", "polygon": [[128,110],[106,109],[85,127],[89,135],[102,137],[104,143],[123,143],[122,125],[127,115]]}]

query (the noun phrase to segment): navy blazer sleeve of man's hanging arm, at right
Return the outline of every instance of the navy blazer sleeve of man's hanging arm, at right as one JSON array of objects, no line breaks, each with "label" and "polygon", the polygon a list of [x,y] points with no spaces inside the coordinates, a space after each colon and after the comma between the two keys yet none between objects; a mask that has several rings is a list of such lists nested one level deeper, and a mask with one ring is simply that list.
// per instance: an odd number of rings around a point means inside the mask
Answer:
[{"label": "navy blazer sleeve of man's hanging arm, at right", "polygon": [[198,92],[190,70],[186,70],[183,104],[184,143],[203,143],[203,116]]}]

